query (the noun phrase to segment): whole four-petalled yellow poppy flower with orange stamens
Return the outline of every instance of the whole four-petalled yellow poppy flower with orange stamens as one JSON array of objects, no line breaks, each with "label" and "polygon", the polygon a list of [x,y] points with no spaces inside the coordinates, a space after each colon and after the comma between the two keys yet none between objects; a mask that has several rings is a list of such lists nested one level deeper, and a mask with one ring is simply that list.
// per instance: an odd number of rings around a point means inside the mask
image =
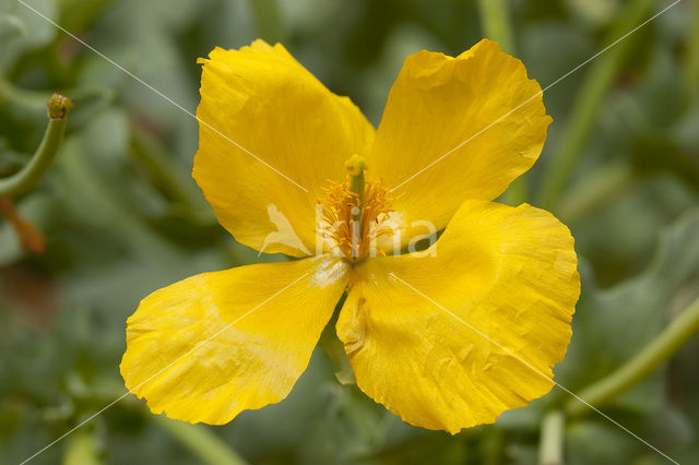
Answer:
[{"label": "whole four-petalled yellow poppy flower with orange stamens", "polygon": [[[519,60],[489,40],[410,56],[376,131],[281,45],[201,62],[193,176],[218,222],[258,250],[318,253],[146,297],[121,373],[151,410],[218,425],[280,402],[345,290],[336,332],[357,385],[408,424],[455,433],[552,389],[580,290],[573,239],[547,212],[493,202],[552,121]],[[426,225],[446,228],[428,250],[391,253]]]}]

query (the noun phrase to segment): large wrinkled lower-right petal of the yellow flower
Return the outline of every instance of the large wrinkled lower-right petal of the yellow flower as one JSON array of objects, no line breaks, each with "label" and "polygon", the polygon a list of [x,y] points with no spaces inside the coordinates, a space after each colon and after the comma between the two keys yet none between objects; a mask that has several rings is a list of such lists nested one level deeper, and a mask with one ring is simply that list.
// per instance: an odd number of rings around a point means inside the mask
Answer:
[{"label": "large wrinkled lower-right petal of the yellow flower", "polygon": [[566,226],[530,205],[465,202],[433,248],[362,263],[336,329],[365,393],[455,433],[550,390],[580,277]]}]

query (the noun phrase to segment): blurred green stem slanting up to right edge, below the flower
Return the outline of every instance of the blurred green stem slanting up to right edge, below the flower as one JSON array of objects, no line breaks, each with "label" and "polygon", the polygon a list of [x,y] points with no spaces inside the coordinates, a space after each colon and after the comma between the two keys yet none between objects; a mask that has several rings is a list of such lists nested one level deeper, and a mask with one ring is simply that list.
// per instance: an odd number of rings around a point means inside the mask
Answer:
[{"label": "blurred green stem slanting up to right edge, below the flower", "polygon": [[[672,357],[691,336],[699,332],[699,299],[696,299],[655,339],[619,369],[583,389],[577,398],[566,406],[569,415],[580,415],[599,406],[636,385]],[[587,404],[585,404],[587,403]]]}]

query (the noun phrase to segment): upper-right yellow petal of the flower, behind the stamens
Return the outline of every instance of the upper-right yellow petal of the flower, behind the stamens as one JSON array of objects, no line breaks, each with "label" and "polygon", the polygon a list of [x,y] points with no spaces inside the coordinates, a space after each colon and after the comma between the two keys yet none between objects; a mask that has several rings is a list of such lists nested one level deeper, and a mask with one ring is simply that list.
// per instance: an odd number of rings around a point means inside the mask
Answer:
[{"label": "upper-right yellow petal of the flower, behind the stamens", "polygon": [[457,58],[420,51],[391,88],[368,175],[398,188],[404,226],[429,220],[439,230],[464,200],[493,200],[526,171],[550,121],[538,83],[496,43]]}]

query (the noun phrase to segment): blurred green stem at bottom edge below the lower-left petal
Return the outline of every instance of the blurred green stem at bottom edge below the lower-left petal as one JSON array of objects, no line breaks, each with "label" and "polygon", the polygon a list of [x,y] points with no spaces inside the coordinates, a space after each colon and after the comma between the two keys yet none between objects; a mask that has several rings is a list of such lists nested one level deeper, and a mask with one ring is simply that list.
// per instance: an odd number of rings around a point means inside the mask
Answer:
[{"label": "blurred green stem at bottom edge below the lower-left petal", "polygon": [[202,462],[212,465],[247,465],[236,452],[234,452],[217,436],[212,433],[204,425],[190,425],[179,420],[171,420],[165,416],[154,416],[153,420],[173,438],[177,439]]}]

